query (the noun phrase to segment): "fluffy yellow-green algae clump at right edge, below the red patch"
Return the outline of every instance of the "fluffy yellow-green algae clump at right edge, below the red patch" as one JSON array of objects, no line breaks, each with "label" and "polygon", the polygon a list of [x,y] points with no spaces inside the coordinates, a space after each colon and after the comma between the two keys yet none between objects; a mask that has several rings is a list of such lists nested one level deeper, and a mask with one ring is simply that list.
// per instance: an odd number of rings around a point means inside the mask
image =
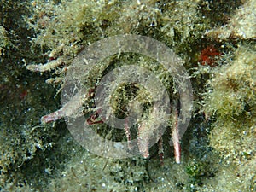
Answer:
[{"label": "fluffy yellow-green algae clump at right edge, below the red patch", "polygon": [[[240,44],[230,63],[216,67],[204,100],[207,115],[215,116],[210,144],[223,160],[234,164],[241,189],[255,189],[256,56],[255,45]],[[235,174],[235,172],[234,172]]]}]

